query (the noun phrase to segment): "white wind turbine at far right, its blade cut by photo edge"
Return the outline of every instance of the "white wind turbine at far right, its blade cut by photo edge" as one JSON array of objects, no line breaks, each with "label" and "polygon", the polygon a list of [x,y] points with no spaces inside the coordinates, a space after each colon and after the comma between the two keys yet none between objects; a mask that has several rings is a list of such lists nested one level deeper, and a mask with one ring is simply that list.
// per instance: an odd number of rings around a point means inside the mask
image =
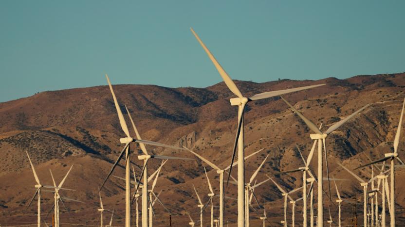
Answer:
[{"label": "white wind turbine at far right, its blade cut by photo edge", "polygon": [[384,162],[386,160],[391,161],[391,163],[390,163],[391,164],[391,173],[390,173],[390,181],[391,181],[391,185],[390,185],[391,186],[391,190],[390,190],[390,193],[391,193],[390,200],[391,201],[390,201],[390,203],[391,203],[391,205],[390,205],[390,208],[391,208],[392,212],[389,213],[390,219],[391,219],[391,221],[390,221],[391,227],[395,227],[395,159],[397,159],[399,162],[404,164],[404,162],[398,157],[398,145],[399,145],[399,137],[401,136],[402,118],[404,116],[404,109],[405,109],[405,98],[404,98],[404,102],[402,104],[402,111],[401,111],[401,116],[399,118],[397,133],[395,134],[394,153],[386,153],[385,157],[382,159],[379,159],[377,161],[370,162],[368,164],[357,167],[357,169],[358,169],[358,168],[368,166],[368,165],[371,165],[371,164],[374,164],[377,162]]}]

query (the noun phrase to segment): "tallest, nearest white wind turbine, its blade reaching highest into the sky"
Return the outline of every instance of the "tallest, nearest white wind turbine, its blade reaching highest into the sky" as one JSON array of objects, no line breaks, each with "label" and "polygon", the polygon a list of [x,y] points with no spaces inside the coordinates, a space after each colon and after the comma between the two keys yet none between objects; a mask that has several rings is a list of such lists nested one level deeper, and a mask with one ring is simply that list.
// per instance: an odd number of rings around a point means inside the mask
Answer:
[{"label": "tallest, nearest white wind turbine, its blade reaching highest into the sky", "polygon": [[[198,42],[201,44],[201,46],[207,53],[208,57],[210,58],[212,63],[217,68],[217,70],[220,73],[222,80],[225,82],[226,86],[229,88],[229,90],[232,93],[234,93],[237,96],[236,98],[230,99],[232,106],[238,106],[238,129],[237,129],[237,133],[236,133],[236,137],[235,137],[235,143],[234,143],[231,163],[234,162],[237,145],[238,145],[238,157],[244,157],[243,113],[244,113],[246,103],[248,103],[249,101],[255,101],[255,100],[259,100],[259,99],[263,99],[263,98],[280,96],[280,95],[291,93],[291,92],[301,91],[301,90],[325,85],[325,84],[317,84],[317,85],[312,85],[312,86],[298,87],[298,88],[292,88],[292,89],[286,89],[286,90],[280,90],[280,91],[264,92],[264,93],[254,95],[252,97],[244,97],[242,95],[242,93],[239,91],[239,89],[236,86],[236,84],[234,83],[234,81],[232,81],[232,79],[228,76],[228,74],[225,72],[225,70],[222,68],[222,66],[218,63],[218,61],[215,59],[215,57],[208,50],[208,48],[203,44],[203,41],[201,41],[201,39],[197,35],[197,33],[194,32],[193,29],[191,29],[191,32],[193,32],[193,34],[197,38]],[[238,163],[238,227],[243,227],[245,225],[245,220],[244,220],[244,218],[245,218],[245,213],[244,213],[245,212],[245,204],[244,204],[245,180],[244,180],[243,158],[238,159],[238,162],[239,162]],[[229,174],[231,174],[231,170],[232,170],[232,168],[229,170],[229,172],[230,172]],[[229,182],[229,176],[228,176],[227,182]]]}]

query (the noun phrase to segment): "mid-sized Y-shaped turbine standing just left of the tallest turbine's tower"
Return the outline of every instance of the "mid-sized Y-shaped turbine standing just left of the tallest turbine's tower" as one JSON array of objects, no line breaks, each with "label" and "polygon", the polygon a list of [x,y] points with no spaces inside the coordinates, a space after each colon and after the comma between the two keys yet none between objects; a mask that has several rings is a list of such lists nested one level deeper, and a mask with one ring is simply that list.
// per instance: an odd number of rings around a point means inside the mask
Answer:
[{"label": "mid-sized Y-shaped turbine standing just left of the tallest turbine's tower", "polygon": [[[224,188],[223,188],[223,173],[230,169],[231,166],[235,166],[238,164],[238,162],[233,162],[231,165],[228,165],[227,167],[225,167],[224,169],[221,169],[220,167],[218,167],[217,165],[215,165],[214,163],[208,161],[206,158],[204,158],[203,156],[197,154],[196,152],[192,151],[191,149],[188,149],[187,147],[183,146],[185,149],[187,149],[190,153],[194,154],[195,156],[197,156],[199,159],[201,159],[203,162],[207,163],[209,166],[211,166],[211,168],[215,169],[217,171],[217,174],[220,175],[220,227],[223,227],[223,213],[224,213]],[[262,151],[263,149],[260,149],[246,157],[244,157],[244,160],[247,160],[248,158],[256,155],[258,152]]]}]

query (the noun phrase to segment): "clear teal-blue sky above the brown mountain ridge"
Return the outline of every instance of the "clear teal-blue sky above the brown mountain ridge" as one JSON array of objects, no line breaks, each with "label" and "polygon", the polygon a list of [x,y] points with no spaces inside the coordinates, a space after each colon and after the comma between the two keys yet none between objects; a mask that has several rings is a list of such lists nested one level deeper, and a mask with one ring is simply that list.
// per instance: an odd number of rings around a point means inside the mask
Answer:
[{"label": "clear teal-blue sky above the brown mountain ridge", "polygon": [[[146,1],[145,1],[146,2]],[[205,87],[236,80],[405,71],[405,1],[0,1],[0,102],[107,84]]]}]

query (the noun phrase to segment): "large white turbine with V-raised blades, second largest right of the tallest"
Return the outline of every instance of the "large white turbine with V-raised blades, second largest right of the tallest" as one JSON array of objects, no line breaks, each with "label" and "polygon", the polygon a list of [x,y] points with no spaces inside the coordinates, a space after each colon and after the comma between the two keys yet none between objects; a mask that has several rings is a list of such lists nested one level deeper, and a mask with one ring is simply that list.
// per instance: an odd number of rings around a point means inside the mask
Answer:
[{"label": "large white turbine with V-raised blades, second largest right of the tallest", "polygon": [[[324,148],[324,152],[325,152],[326,171],[327,171],[327,176],[329,178],[328,156],[327,156],[327,152],[326,152],[326,143],[325,143],[326,137],[328,137],[328,135],[330,133],[337,130],[344,123],[349,121],[353,116],[355,116],[356,114],[358,114],[362,110],[364,110],[366,107],[368,107],[369,104],[362,107],[360,110],[354,112],[353,114],[350,114],[343,120],[340,120],[337,123],[333,124],[325,132],[322,132],[315,126],[315,124],[313,124],[312,121],[310,121],[308,118],[306,118],[304,115],[302,115],[299,111],[297,111],[295,109],[295,107],[292,106],[287,100],[285,100],[283,97],[281,97],[281,98],[283,99],[283,101],[285,103],[287,103],[288,106],[291,107],[291,109],[295,112],[295,114],[297,114],[305,122],[305,124],[308,126],[308,128],[310,128],[314,132],[314,134],[310,134],[311,139],[318,140],[318,178],[319,179],[323,178],[323,166],[322,166],[322,144],[323,144],[323,148]],[[323,226],[323,182],[322,181],[323,180],[318,180],[318,219],[319,219],[318,225],[319,226]],[[328,185],[329,185],[329,194],[331,194],[331,187],[330,187],[329,180],[328,180]]]}]

